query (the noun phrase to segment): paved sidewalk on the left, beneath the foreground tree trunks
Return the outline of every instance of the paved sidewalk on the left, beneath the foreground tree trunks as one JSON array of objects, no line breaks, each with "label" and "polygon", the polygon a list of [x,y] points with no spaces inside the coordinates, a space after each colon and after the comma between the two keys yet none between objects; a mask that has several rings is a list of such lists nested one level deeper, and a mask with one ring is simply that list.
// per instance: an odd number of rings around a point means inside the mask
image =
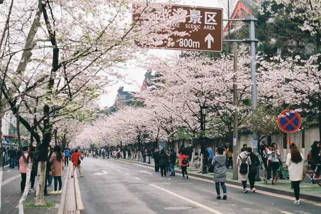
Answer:
[{"label": "paved sidewalk on the left, beneath the foreground tree trunks", "polygon": [[[71,163],[71,162],[70,162]],[[62,176],[62,183],[64,187],[64,181],[66,178],[67,173],[67,167],[64,167],[64,174]],[[8,172],[8,171],[7,171]],[[9,177],[9,176],[12,177]],[[10,182],[6,182],[6,180],[9,180]],[[17,169],[11,169],[10,172],[6,173],[4,172],[4,179],[3,182],[5,182],[4,185],[2,185],[2,207],[1,207],[1,213],[5,214],[15,214],[18,213],[18,203],[21,198],[20,194],[20,182],[21,182],[21,176]],[[35,186],[37,186],[37,178],[35,182]],[[52,181],[52,186],[47,187],[48,192],[54,190],[54,180]],[[32,204],[34,201],[35,192],[30,192],[24,202],[24,204]],[[53,203],[52,207],[48,208],[24,208],[24,211],[26,214],[42,214],[42,213],[48,213],[48,214],[56,214],[58,212],[58,209],[60,207],[61,202],[61,196],[62,194],[56,194],[56,195],[48,195],[45,196],[46,203]]]}]

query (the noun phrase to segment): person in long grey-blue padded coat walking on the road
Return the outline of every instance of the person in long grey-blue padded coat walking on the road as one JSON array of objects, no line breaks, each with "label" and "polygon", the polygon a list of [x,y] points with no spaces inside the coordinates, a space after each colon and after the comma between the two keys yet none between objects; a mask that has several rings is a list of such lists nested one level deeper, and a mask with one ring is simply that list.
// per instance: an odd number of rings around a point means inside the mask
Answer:
[{"label": "person in long grey-blue padded coat walking on the road", "polygon": [[221,193],[220,193],[220,184],[223,189],[223,200],[227,199],[226,195],[226,156],[223,155],[223,147],[217,148],[217,155],[214,156],[211,164],[214,166],[214,182],[215,182],[215,188],[217,197],[216,199],[221,199]]}]

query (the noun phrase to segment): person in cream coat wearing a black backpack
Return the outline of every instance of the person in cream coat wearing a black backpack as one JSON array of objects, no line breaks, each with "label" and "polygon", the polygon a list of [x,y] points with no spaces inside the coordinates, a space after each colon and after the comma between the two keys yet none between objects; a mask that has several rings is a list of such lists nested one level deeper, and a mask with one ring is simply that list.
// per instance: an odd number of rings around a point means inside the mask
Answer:
[{"label": "person in cream coat wearing a black backpack", "polygon": [[251,165],[251,158],[249,157],[249,153],[242,148],[242,152],[237,156],[236,164],[238,165],[238,176],[239,181],[242,181],[243,192],[247,193],[249,190],[246,187],[246,181],[249,174],[249,165]]}]

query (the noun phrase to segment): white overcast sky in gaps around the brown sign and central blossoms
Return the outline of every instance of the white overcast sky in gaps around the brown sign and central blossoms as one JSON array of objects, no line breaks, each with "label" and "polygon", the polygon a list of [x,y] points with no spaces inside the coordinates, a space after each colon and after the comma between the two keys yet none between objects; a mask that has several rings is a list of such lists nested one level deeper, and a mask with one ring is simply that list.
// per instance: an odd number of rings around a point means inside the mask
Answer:
[{"label": "white overcast sky in gaps around the brown sign and central blossoms", "polygon": [[[199,7],[211,7],[211,8],[223,8],[219,0],[182,0],[179,3],[180,5],[189,5],[189,6],[199,6]],[[174,50],[150,50],[149,53],[164,56],[164,55],[177,55],[180,54],[181,51]],[[144,74],[146,70],[141,69],[135,65],[126,70],[120,71],[122,74],[126,75],[125,81],[118,81],[112,86],[106,89],[106,94],[102,95],[99,101],[99,105],[101,108],[109,107],[114,104],[115,98],[117,96],[117,90],[119,87],[123,86],[124,91],[139,91],[143,80]]]}]

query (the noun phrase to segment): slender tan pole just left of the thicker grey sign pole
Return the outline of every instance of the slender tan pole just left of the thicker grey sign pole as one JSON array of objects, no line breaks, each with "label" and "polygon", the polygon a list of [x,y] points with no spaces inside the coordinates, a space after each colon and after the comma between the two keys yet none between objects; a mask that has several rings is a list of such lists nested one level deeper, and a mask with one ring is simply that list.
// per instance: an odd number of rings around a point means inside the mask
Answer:
[{"label": "slender tan pole just left of the thicker grey sign pole", "polygon": [[[234,78],[233,78],[233,106],[237,107],[237,83],[236,83],[236,73],[237,73],[237,43],[233,43],[233,65],[234,65]],[[238,155],[238,112],[235,108],[233,115],[233,180],[238,179],[238,166],[236,165],[236,159]]]}]

